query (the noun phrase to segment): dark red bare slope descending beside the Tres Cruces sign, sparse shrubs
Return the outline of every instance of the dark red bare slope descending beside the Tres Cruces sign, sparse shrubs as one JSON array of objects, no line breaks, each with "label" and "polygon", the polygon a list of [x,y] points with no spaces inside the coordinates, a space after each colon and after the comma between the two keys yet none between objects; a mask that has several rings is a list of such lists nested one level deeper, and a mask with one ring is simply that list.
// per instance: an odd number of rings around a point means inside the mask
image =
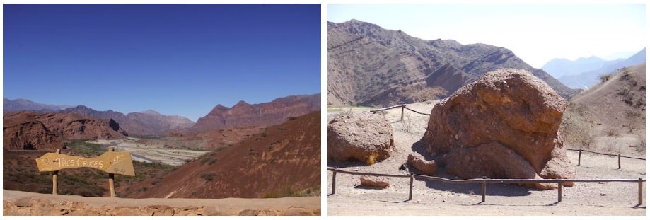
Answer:
[{"label": "dark red bare slope descending beside the Tres Cruces sign, sparse shrubs", "polygon": [[136,198],[320,195],[320,111],[267,127],[161,179],[117,191]]}]

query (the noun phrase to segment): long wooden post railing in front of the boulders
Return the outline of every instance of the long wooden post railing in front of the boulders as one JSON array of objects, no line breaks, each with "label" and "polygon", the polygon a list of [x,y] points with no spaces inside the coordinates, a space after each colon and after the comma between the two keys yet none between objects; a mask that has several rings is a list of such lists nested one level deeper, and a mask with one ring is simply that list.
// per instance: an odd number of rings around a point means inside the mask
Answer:
[{"label": "long wooden post railing in front of the boulders", "polygon": [[356,172],[356,171],[347,171],[339,170],[338,168],[327,168],[327,170],[332,171],[332,195],[336,194],[336,174],[337,173],[346,173],[350,175],[372,175],[372,176],[383,176],[383,177],[393,177],[393,178],[410,178],[410,187],[409,187],[409,199],[412,200],[413,195],[413,180],[434,180],[443,183],[453,183],[453,184],[465,184],[465,183],[481,183],[481,202],[485,202],[485,196],[487,192],[487,183],[557,183],[557,202],[562,202],[562,183],[565,182],[574,182],[574,183],[604,183],[604,182],[623,182],[623,183],[638,183],[638,202],[641,205],[643,204],[643,182],[646,180],[639,178],[635,179],[596,179],[596,180],[581,180],[581,179],[489,179],[489,178],[475,178],[475,179],[465,179],[465,180],[451,180],[447,178],[434,177],[429,175],[417,175],[411,173],[410,175],[398,175],[398,174],[386,174],[386,173],[365,173],[365,172]]}]

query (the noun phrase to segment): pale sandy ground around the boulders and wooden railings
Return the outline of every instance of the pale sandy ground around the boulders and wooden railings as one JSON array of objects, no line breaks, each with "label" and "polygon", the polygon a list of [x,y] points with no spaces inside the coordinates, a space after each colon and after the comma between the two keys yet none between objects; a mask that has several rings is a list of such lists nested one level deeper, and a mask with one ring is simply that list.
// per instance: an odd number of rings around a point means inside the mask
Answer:
[{"label": "pale sandy ground around the boulders and wooden railings", "polygon": [[[420,112],[431,112],[435,102],[414,103],[407,107]],[[365,110],[365,109],[364,109]],[[352,110],[357,111],[357,110]],[[424,135],[428,116],[405,111],[400,121],[400,109],[386,111],[393,125],[397,152],[385,161],[364,166],[361,163],[334,163],[342,170],[369,173],[408,174],[398,170],[408,154],[424,149],[415,146]],[[328,117],[340,112],[333,112]],[[577,165],[578,154],[567,151]],[[645,177],[645,161],[622,158],[617,169],[617,158],[596,154],[582,154],[581,166],[576,166],[577,179]],[[454,178],[440,170],[439,176]],[[451,184],[435,181],[414,181],[413,199],[408,201],[409,179],[389,178],[390,187],[372,190],[359,185],[359,175],[337,174],[337,192],[332,195],[332,172],[327,172],[328,216],[645,216],[644,202],[638,203],[637,183],[576,183],[563,187],[562,202],[557,203],[557,190],[533,190],[515,185],[487,185],[486,202],[481,202],[480,184]]]}]

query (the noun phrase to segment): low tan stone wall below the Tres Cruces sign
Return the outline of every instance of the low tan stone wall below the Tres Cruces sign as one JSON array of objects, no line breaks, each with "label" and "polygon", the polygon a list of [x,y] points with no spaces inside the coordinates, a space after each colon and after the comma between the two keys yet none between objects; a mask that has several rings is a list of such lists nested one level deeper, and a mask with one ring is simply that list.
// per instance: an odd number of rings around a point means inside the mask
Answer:
[{"label": "low tan stone wall below the Tres Cruces sign", "polygon": [[320,197],[124,199],[3,191],[3,216],[320,216]]}]

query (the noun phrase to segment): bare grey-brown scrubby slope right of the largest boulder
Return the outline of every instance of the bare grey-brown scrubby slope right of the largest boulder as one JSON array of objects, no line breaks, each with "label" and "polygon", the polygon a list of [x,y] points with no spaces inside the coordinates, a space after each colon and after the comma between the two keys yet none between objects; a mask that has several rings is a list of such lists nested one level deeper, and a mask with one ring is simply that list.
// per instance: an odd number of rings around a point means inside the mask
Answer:
[{"label": "bare grey-brown scrubby slope right of the largest boulder", "polygon": [[573,148],[621,154],[645,152],[646,64],[606,76],[571,99],[562,134]]}]

